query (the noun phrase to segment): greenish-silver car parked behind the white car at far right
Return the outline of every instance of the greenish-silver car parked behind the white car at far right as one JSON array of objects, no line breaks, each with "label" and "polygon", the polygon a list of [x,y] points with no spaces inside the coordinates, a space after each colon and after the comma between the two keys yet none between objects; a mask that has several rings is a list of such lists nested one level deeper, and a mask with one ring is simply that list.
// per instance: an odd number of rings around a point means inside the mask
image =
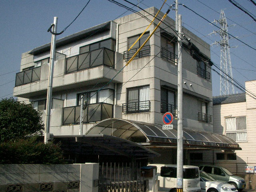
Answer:
[{"label": "greenish-silver car parked behind the white car at far right", "polygon": [[214,165],[204,165],[200,166],[199,169],[208,173],[215,180],[223,181],[235,186],[238,191],[242,191],[246,187],[244,178],[232,174],[226,168]]}]

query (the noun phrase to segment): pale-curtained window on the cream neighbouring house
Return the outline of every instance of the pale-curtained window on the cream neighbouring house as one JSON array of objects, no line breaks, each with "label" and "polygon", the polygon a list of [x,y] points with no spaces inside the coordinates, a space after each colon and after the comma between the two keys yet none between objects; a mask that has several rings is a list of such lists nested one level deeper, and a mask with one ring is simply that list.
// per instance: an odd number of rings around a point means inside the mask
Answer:
[{"label": "pale-curtained window on the cream neighbouring house", "polygon": [[234,141],[247,141],[246,117],[226,118],[226,136]]}]

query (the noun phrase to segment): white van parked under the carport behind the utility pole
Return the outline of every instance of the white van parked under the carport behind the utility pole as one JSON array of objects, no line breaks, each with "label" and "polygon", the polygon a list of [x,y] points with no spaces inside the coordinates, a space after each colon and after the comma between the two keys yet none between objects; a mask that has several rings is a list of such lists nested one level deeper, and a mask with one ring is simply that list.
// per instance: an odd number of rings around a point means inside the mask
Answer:
[{"label": "white van parked under the carport behind the utility pole", "polygon": [[[177,165],[172,164],[148,164],[156,166],[156,174],[159,180],[159,191],[176,192]],[[197,166],[183,166],[183,192],[200,192],[199,168]]]}]

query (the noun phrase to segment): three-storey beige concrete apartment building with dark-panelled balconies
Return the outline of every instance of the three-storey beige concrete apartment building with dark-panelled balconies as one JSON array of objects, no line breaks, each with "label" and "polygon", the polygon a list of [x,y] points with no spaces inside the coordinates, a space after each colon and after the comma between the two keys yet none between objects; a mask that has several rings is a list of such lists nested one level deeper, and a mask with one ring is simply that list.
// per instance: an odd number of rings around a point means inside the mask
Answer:
[{"label": "three-storey beige concrete apartment building with dark-panelled balconies", "polygon": [[[154,7],[140,11],[149,20],[157,12]],[[163,15],[160,12],[158,18]],[[130,14],[56,41],[50,133],[79,134],[83,95],[87,102],[83,134],[125,138],[159,152],[164,157],[162,162],[176,162],[177,119],[173,121],[173,130],[161,127],[165,112],[171,112],[174,118],[178,114],[174,20],[166,17],[161,28],[126,66],[155,28],[151,25],[128,51],[150,23],[146,18]],[[210,45],[186,28],[183,33],[190,39],[182,44],[184,149],[189,163],[190,150],[239,146],[226,136],[213,135]],[[49,57],[50,44],[22,54],[14,87],[14,96],[32,102],[44,115]],[[216,137],[220,137],[217,142]]]}]

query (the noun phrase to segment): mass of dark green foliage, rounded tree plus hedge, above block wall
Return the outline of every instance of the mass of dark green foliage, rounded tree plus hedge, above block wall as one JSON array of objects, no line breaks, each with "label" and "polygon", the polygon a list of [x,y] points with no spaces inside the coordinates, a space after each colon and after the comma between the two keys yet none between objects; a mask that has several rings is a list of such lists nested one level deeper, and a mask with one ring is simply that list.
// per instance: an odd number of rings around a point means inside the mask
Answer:
[{"label": "mass of dark green foliage, rounded tree plus hedge, above block wall", "polygon": [[[60,164],[59,144],[44,144],[42,112],[14,98],[0,101],[0,164]],[[40,141],[41,139],[41,141]]]}]

